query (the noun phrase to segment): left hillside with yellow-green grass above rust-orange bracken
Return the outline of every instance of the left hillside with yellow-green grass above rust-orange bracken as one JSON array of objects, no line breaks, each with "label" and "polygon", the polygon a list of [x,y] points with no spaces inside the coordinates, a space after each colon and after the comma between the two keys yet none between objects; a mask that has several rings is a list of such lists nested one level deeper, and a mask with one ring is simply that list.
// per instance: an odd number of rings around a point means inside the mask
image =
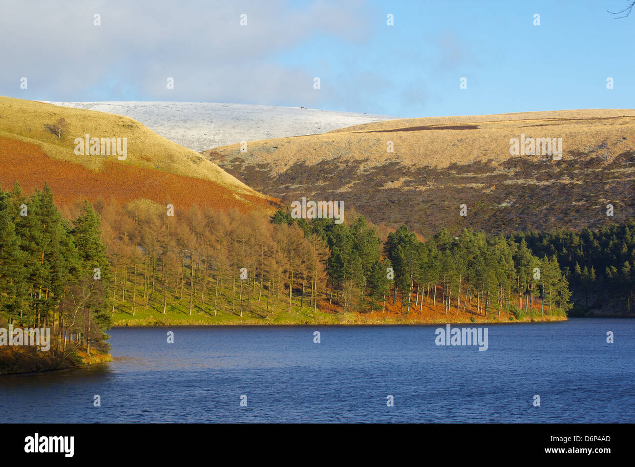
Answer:
[{"label": "left hillside with yellow-green grass above rust-orange bracken", "polygon": [[[110,151],[76,139],[119,139]],[[103,144],[103,143],[102,143]],[[102,151],[103,149],[103,151]],[[81,152],[81,151],[79,151]],[[102,153],[103,152],[103,153]],[[110,154],[108,154],[110,152]],[[196,202],[218,208],[269,211],[276,200],[235,179],[197,152],[167,140],[128,117],[0,97],[0,182],[29,191],[48,182],[63,203],[113,197],[145,198],[175,208]]]}]

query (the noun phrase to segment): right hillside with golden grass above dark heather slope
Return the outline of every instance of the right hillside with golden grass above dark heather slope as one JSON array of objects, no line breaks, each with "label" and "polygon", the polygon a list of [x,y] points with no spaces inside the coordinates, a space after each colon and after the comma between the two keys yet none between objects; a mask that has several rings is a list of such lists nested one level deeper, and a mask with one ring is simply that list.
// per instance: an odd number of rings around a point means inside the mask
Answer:
[{"label": "right hillside with golden grass above dark heather slope", "polygon": [[[521,135],[561,138],[562,158],[510,154],[510,140]],[[344,201],[375,224],[422,234],[467,225],[490,233],[580,229],[635,214],[633,110],[397,119],[239,149],[203,154],[283,204],[303,196]]]}]

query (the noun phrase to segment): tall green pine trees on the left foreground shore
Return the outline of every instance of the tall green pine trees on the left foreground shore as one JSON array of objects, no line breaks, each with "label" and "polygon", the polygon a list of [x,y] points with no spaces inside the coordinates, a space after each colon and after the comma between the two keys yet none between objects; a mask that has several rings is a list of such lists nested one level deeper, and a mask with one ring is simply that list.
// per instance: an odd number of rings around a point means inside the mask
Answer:
[{"label": "tall green pine trees on the left foreground shore", "polygon": [[[53,348],[106,351],[109,260],[99,216],[84,202],[69,222],[48,186],[0,189],[0,322],[51,328]],[[70,345],[69,345],[70,344]]]}]

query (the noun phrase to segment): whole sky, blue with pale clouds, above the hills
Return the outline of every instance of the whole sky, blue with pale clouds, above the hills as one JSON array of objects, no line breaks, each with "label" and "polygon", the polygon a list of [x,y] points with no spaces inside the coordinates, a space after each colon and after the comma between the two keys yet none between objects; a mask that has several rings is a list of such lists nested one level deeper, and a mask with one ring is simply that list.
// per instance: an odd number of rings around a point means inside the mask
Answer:
[{"label": "whole sky, blue with pale clouds, above the hills", "polygon": [[632,109],[635,12],[616,20],[606,11],[626,4],[69,0],[57,8],[3,1],[0,94],[304,105],[400,117]]}]

